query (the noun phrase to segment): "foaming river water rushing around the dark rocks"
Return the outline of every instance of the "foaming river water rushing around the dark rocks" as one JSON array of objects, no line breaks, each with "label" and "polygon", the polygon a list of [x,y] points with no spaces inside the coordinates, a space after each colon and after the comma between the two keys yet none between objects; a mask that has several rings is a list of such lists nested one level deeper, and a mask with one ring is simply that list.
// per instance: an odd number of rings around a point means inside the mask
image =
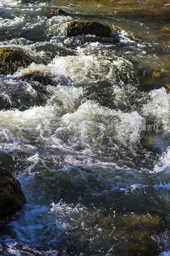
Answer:
[{"label": "foaming river water rushing around the dark rocks", "polygon": [[[34,70],[55,86],[45,106],[0,111],[0,162],[27,199],[0,227],[0,255],[170,255],[169,1],[23,2],[0,1],[0,47],[44,64],[4,76],[1,92],[34,95],[14,79]],[[120,43],[65,38],[73,20],[121,28]]]}]

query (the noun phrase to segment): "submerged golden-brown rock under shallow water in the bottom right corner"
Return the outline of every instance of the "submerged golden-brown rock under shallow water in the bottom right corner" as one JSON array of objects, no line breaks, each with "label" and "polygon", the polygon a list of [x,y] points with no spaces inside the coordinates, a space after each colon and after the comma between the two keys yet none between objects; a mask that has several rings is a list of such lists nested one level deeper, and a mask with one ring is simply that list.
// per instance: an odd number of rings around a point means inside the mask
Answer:
[{"label": "submerged golden-brown rock under shallow water in the bottom right corner", "polygon": [[168,240],[170,225],[166,216],[161,214],[117,211],[114,215],[92,217],[88,224],[94,223],[103,230],[103,237],[107,240],[106,251],[114,245],[116,255],[155,256],[167,249],[163,239],[166,234]]}]

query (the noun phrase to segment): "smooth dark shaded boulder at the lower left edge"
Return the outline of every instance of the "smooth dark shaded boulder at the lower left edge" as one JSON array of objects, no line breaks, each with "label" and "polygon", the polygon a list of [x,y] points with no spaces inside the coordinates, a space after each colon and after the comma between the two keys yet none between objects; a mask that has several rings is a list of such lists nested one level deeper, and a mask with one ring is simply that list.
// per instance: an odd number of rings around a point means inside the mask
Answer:
[{"label": "smooth dark shaded boulder at the lower left edge", "polygon": [[10,171],[0,167],[0,220],[17,212],[25,203],[19,181]]}]

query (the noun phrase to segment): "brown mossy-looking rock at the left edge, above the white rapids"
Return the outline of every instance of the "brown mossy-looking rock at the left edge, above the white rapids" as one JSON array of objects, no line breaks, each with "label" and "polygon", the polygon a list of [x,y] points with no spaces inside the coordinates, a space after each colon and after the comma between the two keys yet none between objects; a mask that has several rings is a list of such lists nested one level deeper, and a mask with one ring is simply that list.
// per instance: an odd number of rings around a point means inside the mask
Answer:
[{"label": "brown mossy-looking rock at the left edge, above the white rapids", "polygon": [[24,51],[0,48],[0,74],[13,74],[19,67],[27,68],[34,60]]}]

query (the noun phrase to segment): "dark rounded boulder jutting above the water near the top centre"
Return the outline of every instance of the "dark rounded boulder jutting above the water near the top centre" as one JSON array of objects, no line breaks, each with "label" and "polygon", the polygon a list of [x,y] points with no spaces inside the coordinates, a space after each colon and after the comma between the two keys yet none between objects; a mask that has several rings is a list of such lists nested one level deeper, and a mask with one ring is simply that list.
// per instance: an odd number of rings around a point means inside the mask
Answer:
[{"label": "dark rounded boulder jutting above the water near the top centre", "polygon": [[96,35],[108,37],[112,33],[111,28],[95,21],[72,21],[67,24],[64,34],[67,37]]}]

